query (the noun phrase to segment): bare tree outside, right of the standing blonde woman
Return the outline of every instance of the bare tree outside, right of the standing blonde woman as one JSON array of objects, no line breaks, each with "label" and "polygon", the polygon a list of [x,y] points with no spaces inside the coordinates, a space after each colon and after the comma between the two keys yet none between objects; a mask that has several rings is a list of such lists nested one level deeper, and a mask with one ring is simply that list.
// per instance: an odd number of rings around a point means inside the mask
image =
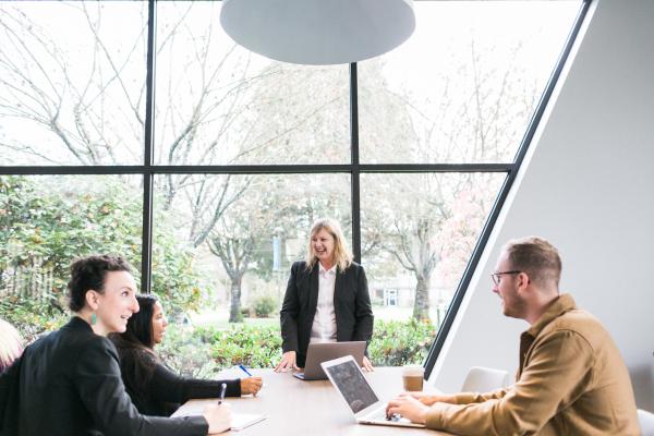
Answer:
[{"label": "bare tree outside, right of the standing blonde woman", "polygon": [[[514,57],[519,50],[514,48]],[[390,90],[379,78],[384,65],[368,64],[371,80],[362,94],[374,101],[367,117],[377,120],[374,128],[362,131],[360,142],[375,144],[366,149],[368,159],[480,162],[506,158],[535,107],[537,89],[520,81],[524,75],[520,65],[497,65],[486,59],[491,53],[480,51],[471,40],[469,59],[455,57],[448,62],[457,74],[444,71],[434,80],[436,92],[424,96],[403,88]],[[457,77],[470,83],[457,83]],[[451,88],[469,89],[469,94],[456,98]],[[385,192],[389,186],[392,195]],[[432,277],[444,253],[470,257],[498,189],[497,179],[473,173],[385,174],[384,181],[372,175],[362,183],[363,202],[374,198],[376,203],[362,206],[364,252],[372,259],[384,258],[379,254],[386,252],[414,276],[414,318],[429,316]],[[479,225],[472,237],[470,226],[452,223],[462,215],[460,209],[476,214],[468,216]],[[450,267],[453,264],[449,262]]]}]

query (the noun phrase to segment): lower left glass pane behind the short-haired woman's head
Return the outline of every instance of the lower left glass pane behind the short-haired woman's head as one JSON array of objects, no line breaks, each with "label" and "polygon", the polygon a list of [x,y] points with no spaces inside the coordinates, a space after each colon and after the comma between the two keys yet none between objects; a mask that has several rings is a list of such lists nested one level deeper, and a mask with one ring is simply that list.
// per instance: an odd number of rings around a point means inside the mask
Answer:
[{"label": "lower left glass pane behind the short-haired woman's head", "polygon": [[65,286],[80,256],[124,256],[141,278],[142,178],[0,175],[0,318],[27,340],[69,315]]}]

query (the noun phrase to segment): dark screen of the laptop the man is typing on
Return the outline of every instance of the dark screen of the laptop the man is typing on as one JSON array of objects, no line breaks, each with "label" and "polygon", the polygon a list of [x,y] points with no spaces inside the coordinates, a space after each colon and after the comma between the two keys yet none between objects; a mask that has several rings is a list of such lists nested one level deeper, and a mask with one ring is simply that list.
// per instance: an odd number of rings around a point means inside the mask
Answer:
[{"label": "dark screen of the laptop the man is typing on", "polygon": [[325,368],[341,391],[352,412],[358,413],[379,401],[353,360]]}]

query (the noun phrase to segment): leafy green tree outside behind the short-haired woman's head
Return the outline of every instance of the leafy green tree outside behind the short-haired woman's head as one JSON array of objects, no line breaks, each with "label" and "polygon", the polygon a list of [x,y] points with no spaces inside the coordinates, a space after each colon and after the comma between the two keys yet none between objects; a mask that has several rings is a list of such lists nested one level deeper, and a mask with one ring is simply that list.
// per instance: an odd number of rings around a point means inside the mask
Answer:
[{"label": "leafy green tree outside behind the short-haired woman's head", "polygon": [[[65,178],[0,177],[0,316],[39,332],[66,311],[69,266],[80,256],[113,253],[141,265],[140,195],[118,180],[92,178],[80,192]],[[177,245],[172,232],[157,235],[164,261],[153,291],[170,307],[199,303],[193,254]],[[136,279],[138,278],[135,271]]]}]

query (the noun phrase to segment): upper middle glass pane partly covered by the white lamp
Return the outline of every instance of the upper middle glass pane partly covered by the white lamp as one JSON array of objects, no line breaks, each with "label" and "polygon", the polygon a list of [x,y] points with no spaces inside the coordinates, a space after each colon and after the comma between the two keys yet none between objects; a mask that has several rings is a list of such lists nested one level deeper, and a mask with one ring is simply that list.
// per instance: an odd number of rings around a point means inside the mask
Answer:
[{"label": "upper middle glass pane partly covered by the white lamp", "polygon": [[157,8],[157,164],[349,160],[348,65],[254,55],[222,32],[221,2]]}]

